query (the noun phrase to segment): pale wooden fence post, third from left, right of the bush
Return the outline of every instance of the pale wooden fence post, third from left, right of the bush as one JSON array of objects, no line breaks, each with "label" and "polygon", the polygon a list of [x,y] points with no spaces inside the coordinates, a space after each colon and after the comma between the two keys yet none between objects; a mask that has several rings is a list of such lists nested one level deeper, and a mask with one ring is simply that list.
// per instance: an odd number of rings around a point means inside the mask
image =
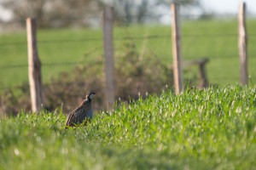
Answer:
[{"label": "pale wooden fence post, third from left, right of the bush", "polygon": [[173,77],[176,94],[183,92],[183,68],[181,56],[181,33],[179,5],[172,3],[172,57],[173,57]]}]

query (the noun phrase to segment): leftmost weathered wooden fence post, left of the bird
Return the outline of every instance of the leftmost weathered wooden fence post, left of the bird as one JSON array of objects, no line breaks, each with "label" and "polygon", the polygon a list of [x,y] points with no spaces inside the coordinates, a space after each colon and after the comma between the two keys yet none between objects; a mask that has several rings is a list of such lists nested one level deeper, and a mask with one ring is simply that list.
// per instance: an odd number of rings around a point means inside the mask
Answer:
[{"label": "leftmost weathered wooden fence post, left of the bird", "polygon": [[38,58],[37,22],[35,19],[26,19],[27,50],[28,50],[28,77],[32,102],[32,111],[42,109],[41,63]]}]

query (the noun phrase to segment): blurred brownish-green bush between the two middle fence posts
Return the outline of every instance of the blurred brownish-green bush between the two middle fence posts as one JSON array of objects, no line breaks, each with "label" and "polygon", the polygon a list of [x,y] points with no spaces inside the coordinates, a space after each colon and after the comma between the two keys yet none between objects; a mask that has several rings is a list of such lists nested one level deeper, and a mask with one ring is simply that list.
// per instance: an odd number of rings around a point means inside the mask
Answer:
[{"label": "blurred brownish-green bush between the two middle fence posts", "polygon": [[172,86],[171,65],[164,65],[154,54],[138,54],[131,42],[125,42],[123,48],[124,53],[116,57],[117,97],[137,99],[138,93],[158,94],[166,85]]}]

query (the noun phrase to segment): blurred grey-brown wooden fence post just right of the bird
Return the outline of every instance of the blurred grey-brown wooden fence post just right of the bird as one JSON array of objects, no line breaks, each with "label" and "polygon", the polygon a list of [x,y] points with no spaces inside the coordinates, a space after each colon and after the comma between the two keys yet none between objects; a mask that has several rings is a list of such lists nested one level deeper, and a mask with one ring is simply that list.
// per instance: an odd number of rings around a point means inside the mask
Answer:
[{"label": "blurred grey-brown wooden fence post just right of the bird", "polygon": [[113,61],[113,8],[106,6],[103,12],[103,38],[106,72],[106,95],[108,108],[114,102],[114,61]]}]

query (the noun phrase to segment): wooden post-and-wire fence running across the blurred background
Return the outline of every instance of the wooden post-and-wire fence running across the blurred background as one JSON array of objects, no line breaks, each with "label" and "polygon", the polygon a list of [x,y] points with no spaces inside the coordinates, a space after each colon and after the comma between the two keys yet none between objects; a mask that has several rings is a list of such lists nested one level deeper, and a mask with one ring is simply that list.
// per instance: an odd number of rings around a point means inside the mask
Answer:
[{"label": "wooden post-and-wire fence running across the blurred background", "polygon": [[[179,59],[179,56],[182,56],[183,54],[181,54],[181,51],[183,51],[183,49],[181,49],[183,46],[183,44],[181,43],[180,44],[180,38],[189,38],[189,37],[196,37],[196,38],[214,38],[214,37],[222,37],[222,36],[225,36],[225,37],[236,37],[237,35],[234,35],[234,34],[231,34],[231,35],[202,35],[202,37],[200,37],[200,35],[179,35],[178,32],[180,32],[179,30],[179,25],[175,24],[176,21],[178,22],[178,20],[180,20],[178,18],[178,12],[174,10],[175,8],[175,5],[172,6],[172,11],[174,14],[172,14],[172,17],[173,17],[173,23],[172,23],[172,26],[176,29],[172,29],[172,44],[173,44],[173,48],[172,48],[172,56],[175,57],[173,59],[173,63],[175,65],[173,65],[173,70],[174,70],[174,77],[177,77],[175,78],[175,81],[177,83],[176,85],[176,89],[177,89],[177,94],[179,94],[181,91],[182,91],[182,87],[183,87],[183,76],[182,76],[182,66],[185,65],[185,63],[181,63],[181,61],[183,61],[183,59]],[[244,9],[245,9],[245,3],[242,3],[241,5],[241,12],[239,13],[239,19],[241,20],[240,21],[240,25],[239,25],[239,28],[240,29],[240,33],[239,33],[239,39],[240,39],[240,43],[242,45],[239,45],[240,47],[240,51],[241,51],[241,84],[247,84],[247,31],[246,31],[246,28],[245,28],[245,12],[244,12]],[[108,11],[108,12],[107,12]],[[114,82],[113,82],[113,49],[114,47],[112,46],[113,44],[113,36],[112,36],[112,32],[113,32],[113,15],[111,15],[111,11],[112,9],[107,9],[105,14],[104,14],[104,53],[105,53],[105,57],[106,57],[106,67],[105,67],[105,72],[106,72],[106,82],[107,82],[107,85],[106,85],[106,88],[108,90],[106,90],[107,92],[107,96],[108,96],[108,105],[111,106],[113,105],[113,99],[114,99]],[[176,17],[177,16],[177,17]],[[241,17],[242,16],[242,17]],[[173,28],[172,27],[172,28]],[[175,32],[174,32],[175,31]],[[171,28],[170,28],[170,32],[171,32]],[[29,35],[29,34],[28,34]],[[166,35],[154,35],[154,36],[134,36],[134,37],[119,37],[119,38],[115,38],[115,40],[125,40],[125,39],[132,39],[132,40],[144,40],[144,39],[161,39],[161,38],[170,38],[171,39],[171,36],[166,34]],[[75,39],[75,40],[68,40],[69,42],[84,42],[84,41],[88,41],[88,42],[93,42],[93,41],[101,41],[101,38],[79,38],[79,39]],[[40,46],[40,43],[61,43],[61,42],[67,42],[67,40],[56,40],[56,41],[44,41],[44,42],[39,42],[39,46]],[[9,46],[9,45],[20,45],[21,42],[15,42],[15,43],[3,43],[3,44],[0,44],[0,46]],[[176,44],[176,45],[175,45]],[[179,47],[180,46],[180,47]],[[28,46],[30,47],[30,46]],[[102,47],[100,47],[102,48]],[[29,50],[30,51],[30,50]],[[35,52],[31,52],[31,54],[36,54]],[[198,54],[199,56],[200,54]],[[233,54],[232,54],[233,56]],[[207,54],[207,57],[208,58],[211,58],[211,54]],[[31,59],[33,60],[33,59]],[[171,59],[170,59],[171,60]],[[177,61],[177,62],[176,62]],[[210,59],[210,61],[212,61]],[[38,62],[38,61],[36,61]],[[191,62],[190,62],[191,63]],[[207,77],[206,77],[206,73],[205,73],[205,67],[204,65],[207,63],[207,61],[205,59],[203,59],[203,62],[193,62],[192,61],[192,64],[195,63],[195,65],[199,65],[199,68],[201,70],[201,78],[202,79],[206,79],[207,80]],[[202,64],[203,63],[203,64]],[[43,66],[53,66],[53,65],[77,65],[78,62],[56,62],[56,63],[49,63],[49,64],[45,64],[43,63]],[[203,65],[203,66],[202,66]],[[16,68],[16,67],[22,67],[22,66],[27,66],[27,65],[3,65],[1,67],[1,69],[6,69],[6,68]],[[31,68],[32,64],[29,64],[29,68]],[[109,66],[109,67],[108,67]],[[32,67],[33,69],[36,69],[35,67]],[[39,69],[40,66],[38,65],[38,71],[40,70]],[[30,71],[31,73],[34,72],[34,71]],[[38,75],[38,74],[37,74]],[[35,76],[35,75],[34,75]],[[31,76],[32,77],[32,76]],[[35,77],[35,78],[30,78],[30,81],[31,79],[38,79],[37,81],[35,81],[34,83],[30,83],[31,84],[31,87],[32,87],[32,84],[36,84],[36,82],[38,82],[38,84],[40,84],[40,77]],[[205,85],[207,85],[206,83],[207,81],[205,82],[202,82],[205,83]],[[38,92],[38,89],[40,88],[37,88],[37,87],[40,87],[40,85],[38,86],[35,86],[34,89],[32,89],[34,91],[34,93],[31,92],[31,94],[36,94],[36,96],[39,96],[39,97],[33,97],[32,100],[36,100],[38,99],[38,101],[35,101],[35,102],[32,102],[32,103],[35,103],[32,108],[33,111],[38,111],[40,109],[40,106],[41,105],[38,105],[40,103],[42,103],[42,101],[40,102],[40,93],[37,94]]]}]

